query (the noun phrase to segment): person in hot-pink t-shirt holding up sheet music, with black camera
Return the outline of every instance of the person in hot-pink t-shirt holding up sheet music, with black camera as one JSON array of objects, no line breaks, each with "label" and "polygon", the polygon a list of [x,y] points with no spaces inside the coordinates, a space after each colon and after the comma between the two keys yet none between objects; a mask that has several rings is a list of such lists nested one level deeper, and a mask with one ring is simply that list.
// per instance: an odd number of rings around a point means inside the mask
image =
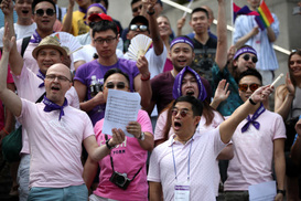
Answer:
[{"label": "person in hot-pink t-shirt holding up sheet music, with black camera", "polygon": [[[108,89],[129,92],[129,76],[119,68],[107,71],[104,76],[104,99]],[[125,108],[126,109],[126,108]],[[111,137],[103,133],[104,118],[96,123],[94,131],[97,142],[106,145],[110,155],[99,162],[87,159],[84,168],[84,180],[89,189],[99,166],[99,183],[89,197],[90,201],[101,200],[148,200],[147,159],[148,151],[153,149],[153,135],[150,118],[144,110],[138,112],[137,121],[130,121],[125,141],[114,147]],[[123,133],[121,129],[112,131]],[[125,135],[125,134],[123,134]],[[125,182],[122,182],[122,179]]]}]

